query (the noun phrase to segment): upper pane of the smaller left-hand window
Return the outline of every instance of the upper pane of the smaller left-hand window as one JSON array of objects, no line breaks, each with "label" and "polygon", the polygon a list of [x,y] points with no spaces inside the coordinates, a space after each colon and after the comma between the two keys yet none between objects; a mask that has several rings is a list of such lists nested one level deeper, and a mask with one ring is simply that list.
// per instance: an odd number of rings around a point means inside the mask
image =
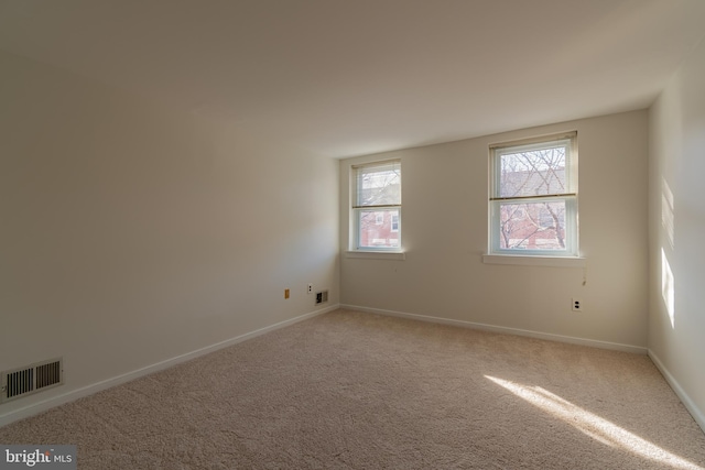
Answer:
[{"label": "upper pane of the smaller left-hand window", "polygon": [[357,206],[400,204],[401,165],[399,162],[357,168]]}]

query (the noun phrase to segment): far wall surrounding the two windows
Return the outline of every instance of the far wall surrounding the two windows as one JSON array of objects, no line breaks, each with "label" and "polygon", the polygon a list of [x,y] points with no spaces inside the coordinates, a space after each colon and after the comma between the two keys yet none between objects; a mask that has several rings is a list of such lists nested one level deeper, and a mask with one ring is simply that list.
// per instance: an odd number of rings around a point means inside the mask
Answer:
[{"label": "far wall surrounding the two windows", "polygon": [[[341,304],[643,352],[647,129],[642,110],[341,161],[340,210],[348,214],[350,165],[401,159],[406,251],[404,261],[341,258]],[[579,238],[587,270],[484,264],[488,145],[568,130],[578,132]],[[349,229],[341,217],[344,248]],[[571,310],[572,297],[583,300],[583,313]]]}]

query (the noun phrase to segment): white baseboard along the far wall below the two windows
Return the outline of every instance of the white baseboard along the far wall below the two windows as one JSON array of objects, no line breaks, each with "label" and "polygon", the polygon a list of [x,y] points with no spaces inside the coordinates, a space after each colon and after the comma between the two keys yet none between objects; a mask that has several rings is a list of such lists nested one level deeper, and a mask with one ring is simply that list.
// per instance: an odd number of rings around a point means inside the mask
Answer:
[{"label": "white baseboard along the far wall below the two windows", "polygon": [[369,314],[387,315],[391,317],[410,318],[414,320],[429,321],[433,324],[451,325],[462,328],[478,329],[484,331],[500,332],[507,335],[527,336],[536,339],[545,339],[549,341],[568,342],[572,345],[589,346],[600,349],[612,349],[616,351],[625,351],[637,354],[647,354],[647,348],[641,346],[621,345],[618,342],[599,341],[596,339],[575,338],[572,336],[554,335],[550,332],[532,331],[519,328],[500,327],[495,325],[477,324],[474,321],[454,320],[442,317],[431,317],[427,315],[406,314],[403,311],[383,310],[381,308],[368,308],[357,305],[340,305],[340,308],[348,310],[366,311]]}]

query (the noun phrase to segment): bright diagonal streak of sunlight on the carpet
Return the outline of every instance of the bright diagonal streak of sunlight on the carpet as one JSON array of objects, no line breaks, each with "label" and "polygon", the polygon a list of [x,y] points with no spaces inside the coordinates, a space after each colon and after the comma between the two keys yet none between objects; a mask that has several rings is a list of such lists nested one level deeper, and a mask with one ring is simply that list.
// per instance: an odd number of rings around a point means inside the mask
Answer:
[{"label": "bright diagonal streak of sunlight on the carpet", "polygon": [[489,375],[485,378],[606,446],[625,449],[670,468],[701,468],[540,386],[522,385]]}]

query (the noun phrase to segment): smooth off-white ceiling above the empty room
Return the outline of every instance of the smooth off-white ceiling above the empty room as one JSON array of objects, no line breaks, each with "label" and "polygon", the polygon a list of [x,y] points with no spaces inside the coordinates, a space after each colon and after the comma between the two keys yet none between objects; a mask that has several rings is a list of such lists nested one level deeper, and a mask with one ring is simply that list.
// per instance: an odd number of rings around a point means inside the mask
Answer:
[{"label": "smooth off-white ceiling above the empty room", "polygon": [[0,50],[346,157],[648,107],[703,0],[0,0]]}]

